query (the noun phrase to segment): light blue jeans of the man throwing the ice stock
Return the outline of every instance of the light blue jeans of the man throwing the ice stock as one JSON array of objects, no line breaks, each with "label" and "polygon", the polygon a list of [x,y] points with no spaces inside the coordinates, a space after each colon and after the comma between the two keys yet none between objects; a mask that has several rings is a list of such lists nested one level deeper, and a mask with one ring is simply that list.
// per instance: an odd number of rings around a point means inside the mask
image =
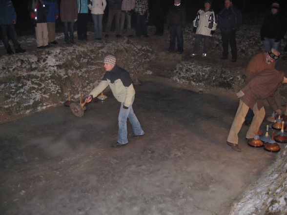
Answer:
[{"label": "light blue jeans of the man throwing the ice stock", "polygon": [[136,117],[132,104],[134,102],[135,97],[132,98],[132,103],[128,107],[128,109],[123,109],[123,102],[121,102],[121,108],[119,113],[119,131],[118,131],[118,143],[126,144],[127,141],[127,128],[126,128],[126,120],[127,117],[129,119],[129,122],[132,125],[132,129],[134,131],[135,135],[143,135],[143,129],[141,127],[141,124]]}]

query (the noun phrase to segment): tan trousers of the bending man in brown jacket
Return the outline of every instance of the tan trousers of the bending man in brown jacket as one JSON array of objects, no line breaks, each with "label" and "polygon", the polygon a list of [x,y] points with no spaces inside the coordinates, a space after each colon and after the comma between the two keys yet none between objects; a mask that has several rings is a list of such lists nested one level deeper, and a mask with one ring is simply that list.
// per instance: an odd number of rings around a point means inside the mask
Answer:
[{"label": "tan trousers of the bending man in brown jacket", "polygon": [[[245,121],[245,117],[248,112],[248,109],[249,107],[240,99],[236,115],[233,119],[230,131],[227,137],[228,142],[238,144],[238,133],[242,127],[243,122]],[[264,107],[258,110],[257,103],[254,105],[252,110],[254,112],[254,117],[247,131],[246,138],[253,138],[254,135],[256,135],[265,117]]]}]

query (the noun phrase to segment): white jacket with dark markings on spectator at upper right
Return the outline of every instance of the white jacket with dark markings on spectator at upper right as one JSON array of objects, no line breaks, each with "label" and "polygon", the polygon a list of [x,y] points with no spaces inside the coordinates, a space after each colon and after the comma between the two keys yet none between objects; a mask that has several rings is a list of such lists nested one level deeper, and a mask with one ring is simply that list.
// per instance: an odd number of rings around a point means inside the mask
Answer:
[{"label": "white jacket with dark markings on spectator at upper right", "polygon": [[211,31],[215,31],[217,26],[217,16],[212,9],[206,11],[200,9],[197,12],[193,27],[197,27],[196,34],[211,36]]}]

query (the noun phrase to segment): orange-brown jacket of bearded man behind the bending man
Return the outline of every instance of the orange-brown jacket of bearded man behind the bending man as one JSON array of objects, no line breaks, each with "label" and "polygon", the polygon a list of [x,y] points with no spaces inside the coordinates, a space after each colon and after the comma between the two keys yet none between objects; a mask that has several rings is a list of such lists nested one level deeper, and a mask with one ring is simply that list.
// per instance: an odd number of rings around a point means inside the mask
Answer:
[{"label": "orange-brown jacket of bearded man behind the bending man", "polygon": [[275,69],[275,62],[268,64],[264,52],[255,55],[246,67],[246,82],[267,68]]}]

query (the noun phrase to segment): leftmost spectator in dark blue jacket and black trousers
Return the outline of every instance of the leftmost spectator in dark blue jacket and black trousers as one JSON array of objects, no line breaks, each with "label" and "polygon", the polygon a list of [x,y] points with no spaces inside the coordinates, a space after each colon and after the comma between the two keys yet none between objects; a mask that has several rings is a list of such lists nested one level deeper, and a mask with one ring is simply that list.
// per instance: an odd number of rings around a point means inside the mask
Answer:
[{"label": "leftmost spectator in dark blue jacket and black trousers", "polygon": [[17,34],[14,28],[16,24],[17,14],[11,0],[0,0],[0,25],[2,32],[2,40],[8,55],[14,54],[12,51],[9,40],[8,32],[11,36],[15,52],[24,53],[26,50],[22,49],[17,40]]}]

